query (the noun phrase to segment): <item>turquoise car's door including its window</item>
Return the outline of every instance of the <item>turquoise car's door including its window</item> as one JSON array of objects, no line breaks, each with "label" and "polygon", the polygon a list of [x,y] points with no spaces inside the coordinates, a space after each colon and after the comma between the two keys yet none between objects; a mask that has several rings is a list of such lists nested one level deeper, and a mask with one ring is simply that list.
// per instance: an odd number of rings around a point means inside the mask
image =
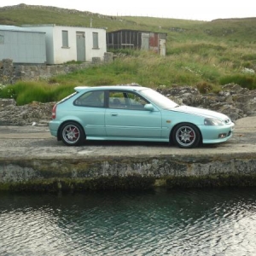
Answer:
[{"label": "turquoise car's door including its window", "polygon": [[136,92],[109,90],[105,113],[108,137],[159,138],[161,113],[144,108],[149,102]]}]

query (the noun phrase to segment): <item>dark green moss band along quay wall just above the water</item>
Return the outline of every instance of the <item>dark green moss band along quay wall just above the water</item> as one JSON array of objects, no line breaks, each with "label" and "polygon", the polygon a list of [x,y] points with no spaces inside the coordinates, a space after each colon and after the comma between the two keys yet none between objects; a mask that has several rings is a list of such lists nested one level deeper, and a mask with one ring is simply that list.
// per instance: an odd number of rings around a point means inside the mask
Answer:
[{"label": "dark green moss band along quay wall just above the water", "polygon": [[76,192],[90,190],[146,190],[154,187],[177,188],[217,188],[256,186],[255,175],[222,174],[202,177],[127,177],[96,178],[49,178],[17,183],[0,183],[0,190],[38,192]]}]

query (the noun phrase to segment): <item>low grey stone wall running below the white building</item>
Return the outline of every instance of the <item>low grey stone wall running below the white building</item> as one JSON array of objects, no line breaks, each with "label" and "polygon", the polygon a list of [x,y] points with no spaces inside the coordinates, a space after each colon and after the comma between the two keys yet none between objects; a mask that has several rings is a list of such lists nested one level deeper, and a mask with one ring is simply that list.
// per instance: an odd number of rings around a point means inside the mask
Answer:
[{"label": "low grey stone wall running below the white building", "polygon": [[93,65],[101,65],[113,61],[113,53],[105,53],[104,61],[93,58],[92,62],[63,65],[15,65],[12,60],[0,61],[0,84],[15,84],[18,80],[37,81],[49,79],[55,75],[72,73]]}]

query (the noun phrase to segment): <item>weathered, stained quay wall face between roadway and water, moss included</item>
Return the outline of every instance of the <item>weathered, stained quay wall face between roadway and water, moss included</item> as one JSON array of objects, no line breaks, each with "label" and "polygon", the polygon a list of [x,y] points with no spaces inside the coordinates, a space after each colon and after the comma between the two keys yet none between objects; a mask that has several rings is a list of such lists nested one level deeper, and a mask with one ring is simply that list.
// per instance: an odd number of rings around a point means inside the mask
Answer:
[{"label": "weathered, stained quay wall face between roadway and water, moss included", "polygon": [[0,190],[256,186],[255,154],[0,158]]}]

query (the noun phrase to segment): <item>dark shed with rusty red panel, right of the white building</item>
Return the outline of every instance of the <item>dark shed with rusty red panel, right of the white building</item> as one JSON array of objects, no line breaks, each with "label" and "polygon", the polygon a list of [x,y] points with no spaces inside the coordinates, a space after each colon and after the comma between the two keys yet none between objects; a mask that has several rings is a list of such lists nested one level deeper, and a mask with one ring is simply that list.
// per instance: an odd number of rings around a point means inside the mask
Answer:
[{"label": "dark shed with rusty red panel, right of the white building", "polygon": [[147,49],[166,55],[166,33],[137,30],[107,32],[108,49]]}]

